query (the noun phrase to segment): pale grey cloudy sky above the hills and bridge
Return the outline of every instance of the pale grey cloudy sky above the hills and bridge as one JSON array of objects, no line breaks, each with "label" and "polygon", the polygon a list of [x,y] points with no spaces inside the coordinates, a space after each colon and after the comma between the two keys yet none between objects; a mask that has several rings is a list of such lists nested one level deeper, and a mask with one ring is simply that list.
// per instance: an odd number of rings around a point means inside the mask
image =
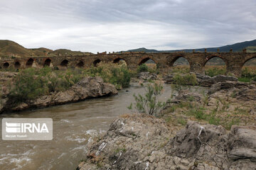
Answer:
[{"label": "pale grey cloudy sky above the hills and bridge", "polygon": [[255,0],[0,0],[0,39],[90,52],[256,39]]}]

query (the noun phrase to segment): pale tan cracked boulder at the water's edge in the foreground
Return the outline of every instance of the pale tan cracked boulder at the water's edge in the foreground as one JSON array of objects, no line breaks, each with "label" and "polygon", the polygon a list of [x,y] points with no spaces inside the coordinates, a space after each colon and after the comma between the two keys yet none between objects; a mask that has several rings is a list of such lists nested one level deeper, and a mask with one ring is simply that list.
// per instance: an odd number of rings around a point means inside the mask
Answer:
[{"label": "pale tan cracked boulder at the water's edge in the foreground", "polygon": [[164,120],[146,114],[124,115],[114,120],[107,134],[90,147],[86,162],[78,169],[147,169],[149,162],[160,159],[154,157],[154,152],[169,141],[170,135]]}]

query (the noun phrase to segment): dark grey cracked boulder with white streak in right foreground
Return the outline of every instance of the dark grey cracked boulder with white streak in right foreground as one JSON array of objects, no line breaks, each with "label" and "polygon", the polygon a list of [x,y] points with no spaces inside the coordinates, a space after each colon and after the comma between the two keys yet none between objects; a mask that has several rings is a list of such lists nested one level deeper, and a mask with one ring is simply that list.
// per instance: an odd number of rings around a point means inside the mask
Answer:
[{"label": "dark grey cracked boulder with white streak in right foreground", "polygon": [[191,121],[185,129],[177,132],[167,151],[180,158],[212,162],[213,166],[226,168],[227,141],[228,137],[222,126],[200,125]]}]

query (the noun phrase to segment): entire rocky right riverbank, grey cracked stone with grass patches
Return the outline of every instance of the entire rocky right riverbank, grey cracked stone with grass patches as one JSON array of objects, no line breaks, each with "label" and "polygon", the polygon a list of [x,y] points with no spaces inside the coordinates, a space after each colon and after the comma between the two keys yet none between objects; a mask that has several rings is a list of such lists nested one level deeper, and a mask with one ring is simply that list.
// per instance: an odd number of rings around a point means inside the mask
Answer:
[{"label": "entire rocky right riverbank, grey cracked stone with grass patches", "polygon": [[159,118],[114,120],[78,169],[255,169],[255,96],[254,84],[228,80],[183,89]]}]

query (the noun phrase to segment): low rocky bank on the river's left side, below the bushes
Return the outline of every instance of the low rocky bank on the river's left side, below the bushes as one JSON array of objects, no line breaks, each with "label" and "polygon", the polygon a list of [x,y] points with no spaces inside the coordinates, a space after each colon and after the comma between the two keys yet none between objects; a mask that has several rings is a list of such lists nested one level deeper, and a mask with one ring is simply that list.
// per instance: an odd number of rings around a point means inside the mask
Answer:
[{"label": "low rocky bank on the river's left side, below the bushes", "polygon": [[22,111],[28,108],[43,108],[64,103],[73,103],[87,98],[111,96],[118,93],[114,85],[105,83],[101,77],[85,77],[67,91],[53,92],[35,100],[18,103],[13,106],[8,98],[8,88],[4,86],[0,102],[0,113],[4,111]]}]

